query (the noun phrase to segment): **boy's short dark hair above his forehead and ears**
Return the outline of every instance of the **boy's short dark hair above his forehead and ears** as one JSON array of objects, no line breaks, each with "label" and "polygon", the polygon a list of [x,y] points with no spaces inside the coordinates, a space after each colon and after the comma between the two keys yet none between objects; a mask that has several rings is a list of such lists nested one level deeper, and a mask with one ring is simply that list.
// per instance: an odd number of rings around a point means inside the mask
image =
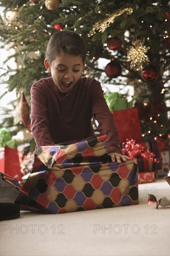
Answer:
[{"label": "boy's short dark hair above his forehead and ears", "polygon": [[85,42],[82,37],[73,31],[59,31],[52,35],[46,48],[46,59],[52,64],[60,54],[71,54],[82,57],[85,62]]}]

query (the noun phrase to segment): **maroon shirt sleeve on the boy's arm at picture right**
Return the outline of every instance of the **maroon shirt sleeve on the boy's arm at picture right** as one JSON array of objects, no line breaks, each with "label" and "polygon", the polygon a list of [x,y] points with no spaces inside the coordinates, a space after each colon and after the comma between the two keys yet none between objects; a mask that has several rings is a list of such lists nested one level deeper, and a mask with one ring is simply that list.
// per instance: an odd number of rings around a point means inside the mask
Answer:
[{"label": "maroon shirt sleeve on the boy's arm at picture right", "polygon": [[119,153],[122,154],[119,147],[118,130],[116,128],[113,115],[111,114],[103,95],[104,91],[98,81],[92,84],[91,92],[91,108],[92,115],[98,121],[98,130],[101,135],[107,135],[108,147],[107,154]]}]

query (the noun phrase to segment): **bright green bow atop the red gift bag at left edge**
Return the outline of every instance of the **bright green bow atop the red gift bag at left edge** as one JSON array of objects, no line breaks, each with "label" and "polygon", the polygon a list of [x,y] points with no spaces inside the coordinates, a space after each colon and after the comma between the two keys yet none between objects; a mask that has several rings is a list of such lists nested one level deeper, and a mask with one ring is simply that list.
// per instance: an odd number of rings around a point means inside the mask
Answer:
[{"label": "bright green bow atop the red gift bag at left edge", "polygon": [[0,147],[17,148],[17,141],[12,139],[7,128],[0,128]]}]

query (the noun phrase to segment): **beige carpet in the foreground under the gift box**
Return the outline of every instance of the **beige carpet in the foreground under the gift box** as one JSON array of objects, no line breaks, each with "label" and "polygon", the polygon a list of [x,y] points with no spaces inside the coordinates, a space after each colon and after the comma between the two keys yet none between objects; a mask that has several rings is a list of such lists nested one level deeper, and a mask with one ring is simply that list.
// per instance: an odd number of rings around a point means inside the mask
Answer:
[{"label": "beige carpet in the foreground under the gift box", "polygon": [[139,184],[139,205],[58,215],[21,212],[0,222],[1,256],[169,256],[170,207],[148,205],[148,194],[170,198],[162,178]]}]

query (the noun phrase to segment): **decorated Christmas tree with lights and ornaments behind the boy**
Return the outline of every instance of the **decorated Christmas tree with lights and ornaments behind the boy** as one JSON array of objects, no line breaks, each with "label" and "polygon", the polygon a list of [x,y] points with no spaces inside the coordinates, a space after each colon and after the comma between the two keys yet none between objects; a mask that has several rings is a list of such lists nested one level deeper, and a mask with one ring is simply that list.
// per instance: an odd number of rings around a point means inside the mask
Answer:
[{"label": "decorated Christmas tree with lights and ornaments behind the boy", "polygon": [[[83,75],[96,78],[101,85],[133,85],[143,140],[167,138],[169,0],[5,0],[0,1],[0,6],[1,47],[15,49],[15,54],[7,60],[12,57],[17,63],[20,60],[15,70],[4,66],[1,76],[8,91],[16,90],[14,107],[19,105],[21,91],[29,101],[33,82],[50,75],[44,59],[51,35],[61,29],[72,30],[81,34],[87,48]],[[102,60],[109,61],[105,68],[98,65]],[[23,95],[20,104],[25,119],[14,123],[7,116],[1,124],[15,127],[13,134],[25,127],[30,130],[29,110]],[[33,150],[34,141],[29,143]]]}]

